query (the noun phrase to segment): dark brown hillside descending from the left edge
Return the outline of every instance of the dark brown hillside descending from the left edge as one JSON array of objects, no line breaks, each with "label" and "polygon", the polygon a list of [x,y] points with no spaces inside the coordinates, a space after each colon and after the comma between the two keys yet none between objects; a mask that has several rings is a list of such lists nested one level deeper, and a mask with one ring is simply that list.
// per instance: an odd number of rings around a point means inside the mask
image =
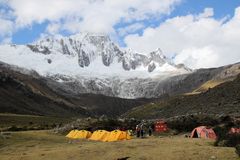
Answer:
[{"label": "dark brown hillside descending from the left edge", "polygon": [[49,89],[41,77],[22,74],[10,66],[0,65],[1,113],[33,115],[86,115],[86,110],[74,107],[69,101]]}]

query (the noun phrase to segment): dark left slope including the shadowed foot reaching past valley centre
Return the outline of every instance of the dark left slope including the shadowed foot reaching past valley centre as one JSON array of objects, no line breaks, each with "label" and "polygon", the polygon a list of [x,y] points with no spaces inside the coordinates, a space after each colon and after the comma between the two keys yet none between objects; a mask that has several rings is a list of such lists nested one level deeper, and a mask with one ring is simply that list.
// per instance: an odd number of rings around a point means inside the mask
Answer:
[{"label": "dark left slope including the shadowed foot reaching past valley centre", "polygon": [[0,113],[86,117],[118,116],[149,102],[103,95],[62,95],[46,84],[58,83],[16,66],[0,63]]}]

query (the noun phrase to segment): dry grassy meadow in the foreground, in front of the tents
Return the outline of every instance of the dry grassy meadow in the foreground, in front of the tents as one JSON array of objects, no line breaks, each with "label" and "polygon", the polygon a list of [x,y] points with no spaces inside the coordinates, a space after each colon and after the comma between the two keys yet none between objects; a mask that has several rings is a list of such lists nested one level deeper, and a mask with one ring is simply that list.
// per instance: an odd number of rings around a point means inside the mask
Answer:
[{"label": "dry grassy meadow in the foreground, in front of the tents", "polygon": [[51,131],[12,132],[0,137],[1,160],[237,160],[234,148],[204,139],[151,137],[121,142],[70,142]]}]

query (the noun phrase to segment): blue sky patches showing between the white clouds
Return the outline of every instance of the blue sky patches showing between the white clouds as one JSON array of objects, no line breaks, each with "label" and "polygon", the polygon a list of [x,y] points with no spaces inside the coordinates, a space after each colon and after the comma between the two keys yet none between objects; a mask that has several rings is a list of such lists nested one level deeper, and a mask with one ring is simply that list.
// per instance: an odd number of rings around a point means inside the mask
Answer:
[{"label": "blue sky patches showing between the white clouds", "polygon": [[[170,15],[161,16],[161,18],[156,19],[147,19],[142,22],[146,27],[156,27],[164,22],[168,18],[176,16],[185,16],[187,14],[199,14],[204,10],[204,8],[209,7],[214,9],[214,17],[216,19],[221,19],[225,16],[232,17],[236,7],[240,6],[240,0],[183,0],[179,5],[177,5]],[[38,39],[42,33],[47,28],[48,21],[43,23],[33,23],[30,26],[26,26],[14,32],[12,36],[12,42],[16,44],[26,44],[31,43],[34,40]],[[127,26],[129,23],[118,23],[115,25],[115,29],[119,27]],[[136,32],[142,34],[143,29],[139,29]],[[61,31],[62,35],[70,35],[70,32]],[[122,46],[125,46],[123,42],[123,36],[119,36],[119,43]]]}]

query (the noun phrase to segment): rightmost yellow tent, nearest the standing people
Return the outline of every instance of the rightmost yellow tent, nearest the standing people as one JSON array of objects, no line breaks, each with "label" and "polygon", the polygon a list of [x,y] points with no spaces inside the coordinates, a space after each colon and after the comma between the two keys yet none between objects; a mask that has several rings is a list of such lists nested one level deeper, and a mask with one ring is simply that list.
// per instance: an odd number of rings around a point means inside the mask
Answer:
[{"label": "rightmost yellow tent, nearest the standing people", "polygon": [[110,134],[106,138],[106,141],[113,142],[113,141],[119,141],[119,140],[129,140],[129,139],[131,139],[131,137],[127,132],[114,130],[110,132]]}]

